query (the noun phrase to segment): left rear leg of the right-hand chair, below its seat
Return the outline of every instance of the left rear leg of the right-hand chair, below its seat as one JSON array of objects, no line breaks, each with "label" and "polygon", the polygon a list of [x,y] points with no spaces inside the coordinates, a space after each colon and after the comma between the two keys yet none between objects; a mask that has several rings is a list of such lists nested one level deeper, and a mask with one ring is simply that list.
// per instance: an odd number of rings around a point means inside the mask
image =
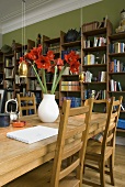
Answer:
[{"label": "left rear leg of the right-hand chair, below its seat", "polygon": [[105,187],[105,170],[104,170],[104,162],[101,163],[100,165],[100,183],[101,183],[101,187]]}]

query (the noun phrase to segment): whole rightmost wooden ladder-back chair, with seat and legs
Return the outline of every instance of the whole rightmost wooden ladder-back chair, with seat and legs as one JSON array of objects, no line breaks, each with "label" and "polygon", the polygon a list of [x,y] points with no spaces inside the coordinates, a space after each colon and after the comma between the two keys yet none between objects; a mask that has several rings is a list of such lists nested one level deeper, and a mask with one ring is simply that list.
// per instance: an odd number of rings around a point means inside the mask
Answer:
[{"label": "whole rightmost wooden ladder-back chair, with seat and legs", "polygon": [[[107,120],[104,130],[103,141],[102,143],[95,141],[89,141],[86,153],[86,167],[90,169],[94,169],[100,173],[100,184],[95,184],[93,182],[83,178],[83,184],[95,186],[95,187],[105,187],[104,174],[109,174],[111,177],[111,184],[114,185],[114,176],[113,176],[113,166],[114,166],[114,150],[115,150],[115,132],[116,124],[120,116],[121,103],[123,97],[120,97],[118,100],[114,100],[112,97],[111,102],[109,105]],[[114,111],[115,108],[115,111]],[[109,162],[109,168],[105,170],[105,162]],[[93,165],[96,164],[96,165]]]}]

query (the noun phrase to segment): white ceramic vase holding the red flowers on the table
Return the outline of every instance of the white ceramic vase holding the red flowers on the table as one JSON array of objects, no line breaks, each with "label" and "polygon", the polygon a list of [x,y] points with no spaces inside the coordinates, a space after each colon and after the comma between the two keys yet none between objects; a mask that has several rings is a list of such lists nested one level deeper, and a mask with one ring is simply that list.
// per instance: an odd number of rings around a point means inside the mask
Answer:
[{"label": "white ceramic vase holding the red flowers on the table", "polygon": [[55,100],[55,95],[43,95],[43,100],[38,106],[38,117],[43,122],[54,122],[59,116],[59,108]]}]

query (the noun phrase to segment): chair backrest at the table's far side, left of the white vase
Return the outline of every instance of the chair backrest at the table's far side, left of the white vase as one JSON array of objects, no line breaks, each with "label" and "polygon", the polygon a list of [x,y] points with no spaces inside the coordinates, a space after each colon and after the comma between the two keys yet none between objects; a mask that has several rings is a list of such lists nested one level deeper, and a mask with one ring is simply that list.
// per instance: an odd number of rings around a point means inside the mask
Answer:
[{"label": "chair backrest at the table's far side, left of the white vase", "polygon": [[20,117],[23,116],[23,111],[26,111],[26,116],[33,110],[33,114],[36,113],[36,99],[35,95],[32,92],[31,96],[23,96],[22,94],[16,95],[18,106],[20,111]]}]

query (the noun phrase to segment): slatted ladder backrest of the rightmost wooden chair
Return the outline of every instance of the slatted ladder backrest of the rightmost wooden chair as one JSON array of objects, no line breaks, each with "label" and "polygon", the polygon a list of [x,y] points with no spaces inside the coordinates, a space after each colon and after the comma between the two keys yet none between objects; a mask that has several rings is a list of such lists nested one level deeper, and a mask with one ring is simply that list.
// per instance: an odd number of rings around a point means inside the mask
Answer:
[{"label": "slatted ladder backrest of the rightmost wooden chair", "polygon": [[120,111],[121,111],[122,99],[123,97],[121,96],[118,100],[115,101],[115,98],[112,97],[109,105],[106,127],[104,130],[102,148],[101,148],[102,160],[104,160],[106,147],[110,145],[110,150],[112,147],[112,152],[113,152],[115,145],[115,133],[116,133],[116,125],[117,125]]}]

